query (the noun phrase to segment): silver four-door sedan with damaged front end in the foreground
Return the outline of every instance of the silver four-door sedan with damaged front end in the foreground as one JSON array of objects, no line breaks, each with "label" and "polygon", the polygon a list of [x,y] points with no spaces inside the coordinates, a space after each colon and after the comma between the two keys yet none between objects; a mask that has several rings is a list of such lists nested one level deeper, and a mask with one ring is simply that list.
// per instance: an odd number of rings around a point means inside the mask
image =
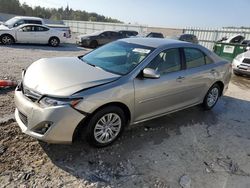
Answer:
[{"label": "silver four-door sedan with damaged front end in the foreground", "polygon": [[213,108],[230,78],[231,64],[200,45],[128,38],[34,62],[15,91],[15,117],[39,140],[70,143],[83,133],[103,147],[127,125],[198,104]]}]

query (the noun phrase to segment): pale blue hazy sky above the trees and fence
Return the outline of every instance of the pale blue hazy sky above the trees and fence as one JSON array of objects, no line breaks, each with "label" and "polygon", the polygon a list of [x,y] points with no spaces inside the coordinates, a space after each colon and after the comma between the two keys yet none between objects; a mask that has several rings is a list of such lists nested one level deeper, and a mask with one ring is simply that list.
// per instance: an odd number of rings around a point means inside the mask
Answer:
[{"label": "pale blue hazy sky above the trees and fence", "polygon": [[125,23],[163,27],[250,27],[250,0],[20,0],[30,6],[69,7]]}]

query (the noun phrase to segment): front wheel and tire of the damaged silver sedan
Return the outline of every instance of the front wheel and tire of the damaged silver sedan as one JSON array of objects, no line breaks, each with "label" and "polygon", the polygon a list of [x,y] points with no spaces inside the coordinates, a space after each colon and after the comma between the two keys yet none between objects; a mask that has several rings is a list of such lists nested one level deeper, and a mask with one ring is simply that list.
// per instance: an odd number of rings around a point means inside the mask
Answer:
[{"label": "front wheel and tire of the damaged silver sedan", "polygon": [[[109,121],[113,120],[109,125]],[[105,122],[107,123],[105,125]],[[113,143],[123,132],[126,125],[124,111],[116,106],[108,106],[97,111],[88,121],[86,138],[90,145],[105,147]]]}]

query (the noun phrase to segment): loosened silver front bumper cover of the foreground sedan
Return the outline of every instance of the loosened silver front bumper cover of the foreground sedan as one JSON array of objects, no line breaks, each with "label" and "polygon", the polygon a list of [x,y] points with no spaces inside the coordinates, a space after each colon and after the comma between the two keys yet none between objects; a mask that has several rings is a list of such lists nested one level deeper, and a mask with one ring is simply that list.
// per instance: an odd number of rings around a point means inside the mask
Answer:
[{"label": "loosened silver front bumper cover of the foreground sedan", "polygon": [[[15,119],[22,132],[48,143],[71,143],[77,125],[85,116],[70,106],[42,108],[15,91]],[[37,131],[45,124],[45,133]]]}]

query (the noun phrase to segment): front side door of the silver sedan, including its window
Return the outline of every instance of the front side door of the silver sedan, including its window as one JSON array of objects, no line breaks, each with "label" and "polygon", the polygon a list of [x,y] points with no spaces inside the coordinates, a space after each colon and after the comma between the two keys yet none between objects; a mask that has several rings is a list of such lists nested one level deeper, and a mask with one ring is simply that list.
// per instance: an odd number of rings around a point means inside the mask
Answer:
[{"label": "front side door of the silver sedan, including its window", "polygon": [[182,59],[178,48],[162,51],[146,67],[157,70],[160,78],[135,78],[135,121],[171,112],[185,105]]}]

